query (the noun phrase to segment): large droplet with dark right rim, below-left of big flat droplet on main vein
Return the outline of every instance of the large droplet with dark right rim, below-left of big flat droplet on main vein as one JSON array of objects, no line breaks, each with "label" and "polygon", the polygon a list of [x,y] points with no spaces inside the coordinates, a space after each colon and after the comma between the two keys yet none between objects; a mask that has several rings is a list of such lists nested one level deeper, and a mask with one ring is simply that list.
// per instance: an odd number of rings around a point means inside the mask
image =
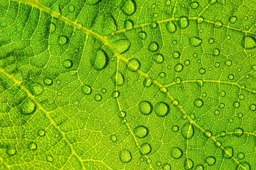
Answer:
[{"label": "large droplet with dark right rim, below-left of big flat droplet on main vein", "polygon": [[108,63],[109,63],[108,54],[103,49],[100,49],[98,52],[94,51],[92,53],[90,63],[95,70],[101,71],[108,66]]}]

